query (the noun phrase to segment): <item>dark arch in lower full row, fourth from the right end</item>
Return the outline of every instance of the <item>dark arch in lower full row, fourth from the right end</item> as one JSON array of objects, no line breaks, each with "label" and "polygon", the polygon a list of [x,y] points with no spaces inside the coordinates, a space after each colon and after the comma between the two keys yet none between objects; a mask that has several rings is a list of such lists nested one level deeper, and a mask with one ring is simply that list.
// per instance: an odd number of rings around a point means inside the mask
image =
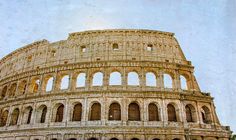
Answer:
[{"label": "dark arch in lower full row, fourth from the right end", "polygon": [[154,103],[148,105],[149,121],[159,121],[158,108]]}]

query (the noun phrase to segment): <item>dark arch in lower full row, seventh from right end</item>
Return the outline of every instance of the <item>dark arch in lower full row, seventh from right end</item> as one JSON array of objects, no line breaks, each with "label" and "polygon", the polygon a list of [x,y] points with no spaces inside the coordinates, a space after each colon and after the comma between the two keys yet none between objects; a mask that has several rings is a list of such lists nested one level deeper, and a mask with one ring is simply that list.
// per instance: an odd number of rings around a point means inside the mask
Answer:
[{"label": "dark arch in lower full row, seventh from right end", "polygon": [[101,119],[101,105],[99,103],[94,103],[90,110],[90,121],[96,121]]}]

